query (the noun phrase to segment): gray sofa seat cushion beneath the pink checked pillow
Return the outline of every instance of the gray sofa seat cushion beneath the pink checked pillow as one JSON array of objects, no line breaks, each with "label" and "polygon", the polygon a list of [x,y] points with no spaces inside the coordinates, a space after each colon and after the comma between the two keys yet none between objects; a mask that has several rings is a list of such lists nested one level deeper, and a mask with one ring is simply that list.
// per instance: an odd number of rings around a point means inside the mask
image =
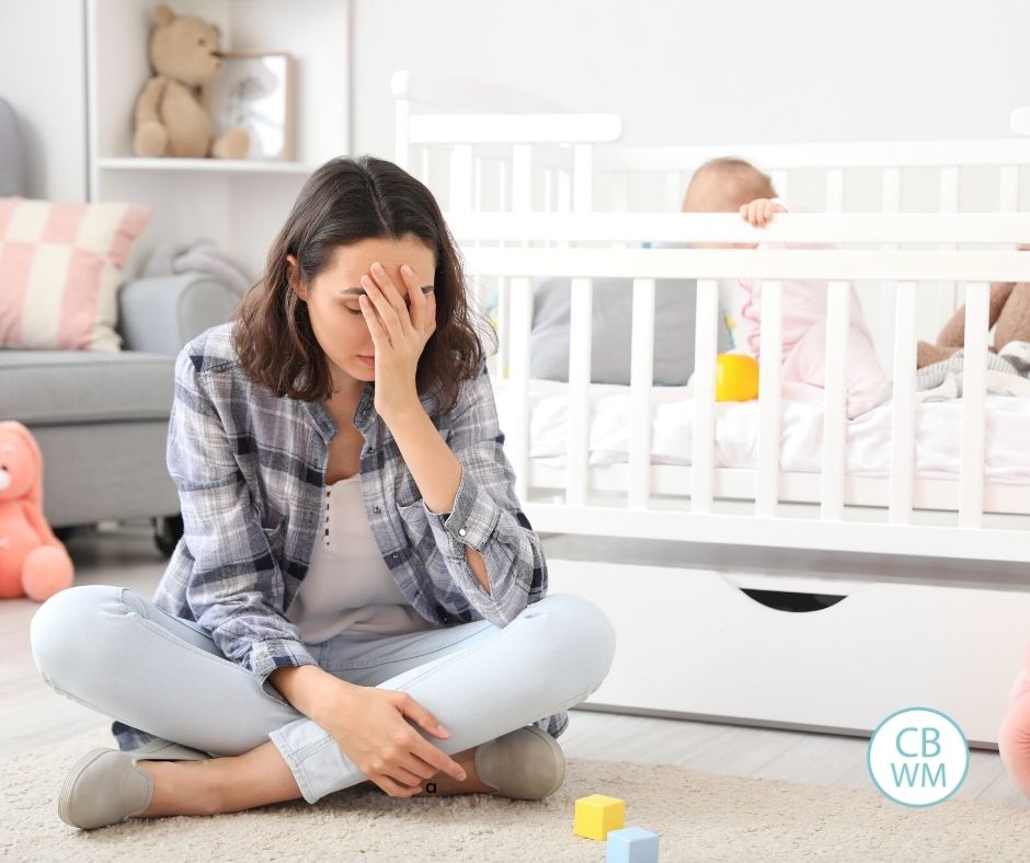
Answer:
[{"label": "gray sofa seat cushion beneath the pink checked pillow", "polygon": [[167,421],[174,382],[174,357],[0,349],[0,419],[26,425]]}]

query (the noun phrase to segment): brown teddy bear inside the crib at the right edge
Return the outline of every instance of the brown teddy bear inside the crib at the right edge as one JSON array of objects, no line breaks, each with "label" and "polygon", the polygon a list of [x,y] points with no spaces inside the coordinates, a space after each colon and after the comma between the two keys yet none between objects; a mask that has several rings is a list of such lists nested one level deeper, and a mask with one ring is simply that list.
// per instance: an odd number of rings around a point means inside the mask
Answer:
[{"label": "brown teddy bear inside the crib at the right edge", "polygon": [[[1030,245],[1020,245],[1030,251]],[[999,281],[991,285],[988,326],[994,326],[991,350],[1006,357],[1017,367],[1030,361],[1030,283]],[[937,337],[937,344],[919,342],[916,367],[924,368],[948,359],[965,342],[965,307],[948,321]],[[1021,369],[1020,369],[1021,370]]]}]

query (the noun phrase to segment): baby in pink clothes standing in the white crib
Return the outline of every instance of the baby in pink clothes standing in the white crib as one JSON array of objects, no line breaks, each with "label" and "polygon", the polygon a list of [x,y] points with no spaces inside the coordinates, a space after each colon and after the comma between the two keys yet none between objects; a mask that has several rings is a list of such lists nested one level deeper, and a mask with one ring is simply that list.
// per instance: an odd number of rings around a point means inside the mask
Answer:
[{"label": "baby in pink clothes standing in the white crib", "polygon": [[[756,228],[765,227],[776,212],[787,212],[777,198],[772,181],[743,159],[712,159],[701,165],[690,180],[683,202],[684,212],[740,212]],[[757,244],[732,244],[755,249]],[[725,246],[723,246],[725,248]],[[759,359],[762,285],[741,279],[744,304],[741,317],[752,326],[743,349]],[[806,383],[825,386],[826,367],[826,283],[783,281],[782,294],[783,367],[781,380],[791,399],[811,401]],[[872,345],[872,335],[862,317],[861,304],[851,288],[850,330],[847,347],[847,414],[855,418],[890,398],[891,387]]]}]

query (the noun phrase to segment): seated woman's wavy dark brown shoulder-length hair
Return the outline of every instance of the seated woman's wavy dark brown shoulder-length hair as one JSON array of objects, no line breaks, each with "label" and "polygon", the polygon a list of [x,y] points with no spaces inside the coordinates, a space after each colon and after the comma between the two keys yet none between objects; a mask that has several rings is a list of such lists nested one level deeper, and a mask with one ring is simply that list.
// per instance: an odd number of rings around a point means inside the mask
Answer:
[{"label": "seated woman's wavy dark brown shoulder-length hair", "polygon": [[307,303],[287,279],[286,256],[310,284],[331,265],[341,245],[362,240],[415,237],[436,255],[433,284],[436,332],[419,360],[420,394],[435,395],[435,413],[446,413],[461,384],[479,373],[483,358],[465,288],[465,273],[433,194],[396,164],[363,157],[337,158],[305,183],[279,230],[261,280],[243,300],[233,334],[247,377],[276,395],[314,402],[329,399],[332,377],[314,337]]}]

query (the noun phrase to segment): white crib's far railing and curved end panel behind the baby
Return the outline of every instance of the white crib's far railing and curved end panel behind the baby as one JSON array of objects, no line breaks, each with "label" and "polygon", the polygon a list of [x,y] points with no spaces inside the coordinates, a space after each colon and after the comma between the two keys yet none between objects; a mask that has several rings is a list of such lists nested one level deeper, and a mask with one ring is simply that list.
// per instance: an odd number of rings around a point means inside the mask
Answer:
[{"label": "white crib's far railing and curved end panel behind the baby", "polygon": [[[781,197],[815,211],[1030,210],[1026,139],[627,146],[618,116],[514,88],[411,72],[392,87],[396,160],[450,212],[675,212],[694,171],[721,156],[752,161]],[[934,317],[959,302],[958,285],[936,286]],[[893,322],[886,307],[870,321],[886,341]]]}]

